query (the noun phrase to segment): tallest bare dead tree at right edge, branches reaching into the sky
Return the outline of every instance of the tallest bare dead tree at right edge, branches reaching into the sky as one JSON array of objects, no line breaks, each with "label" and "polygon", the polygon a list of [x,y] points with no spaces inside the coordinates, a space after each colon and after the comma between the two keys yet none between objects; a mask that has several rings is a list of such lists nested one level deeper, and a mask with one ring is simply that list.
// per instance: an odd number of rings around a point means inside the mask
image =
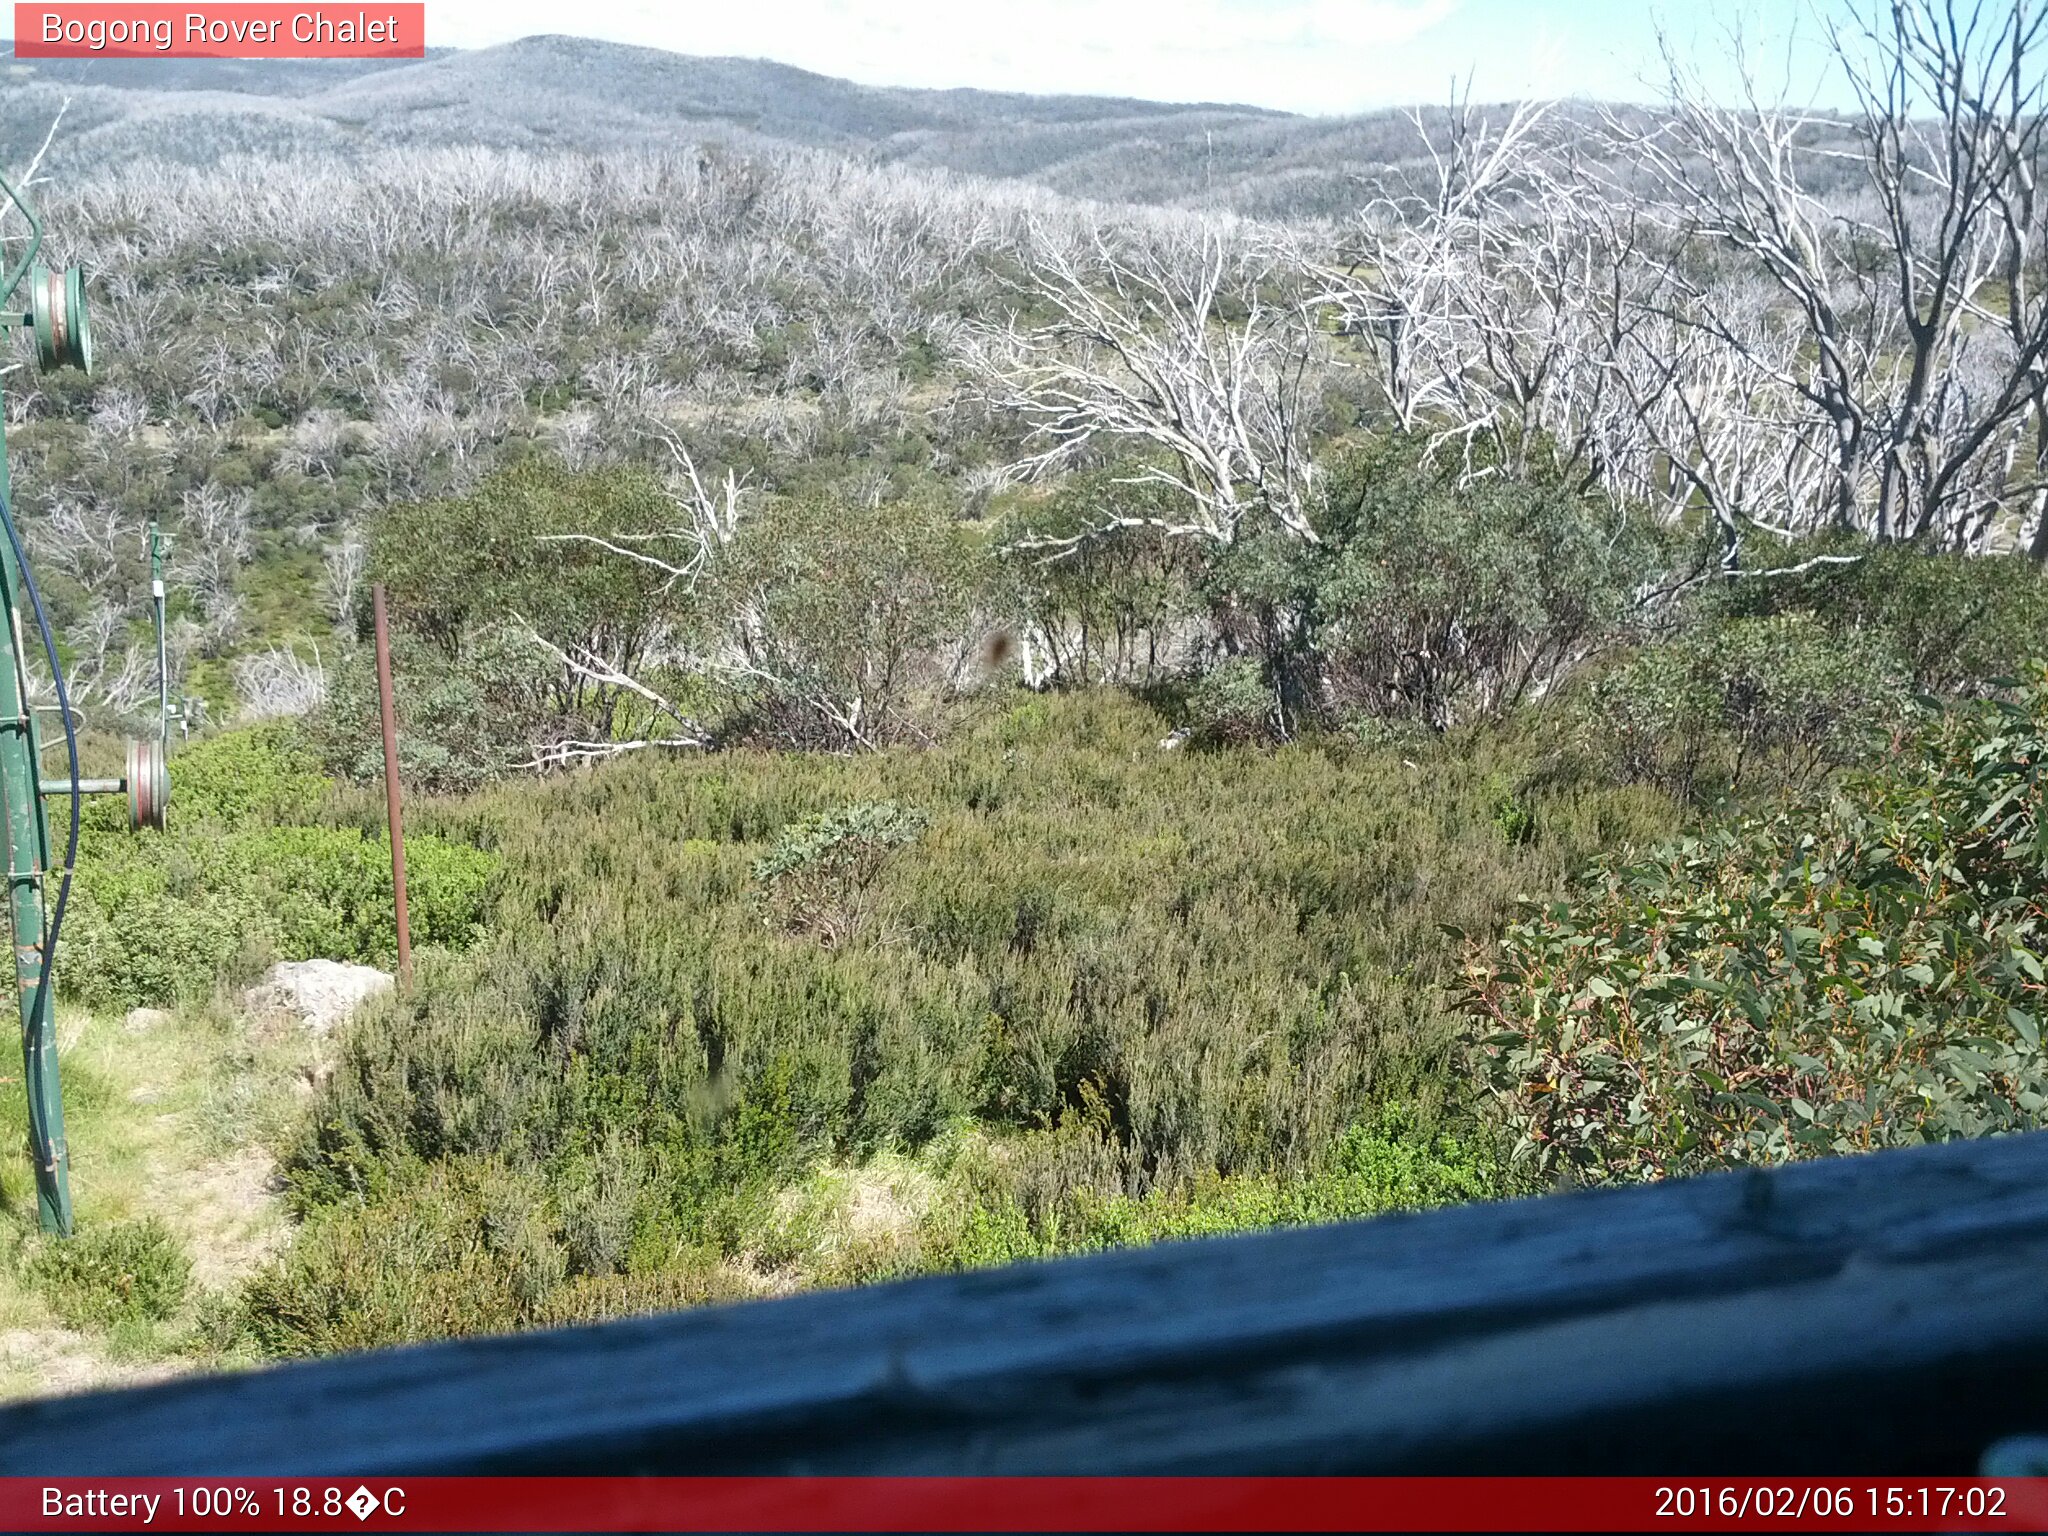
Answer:
[{"label": "tallest bare dead tree at right edge, branches reaching into the sky", "polygon": [[[1667,39],[1669,109],[1610,115],[1610,133],[1669,236],[1659,313],[1798,401],[1792,438],[1827,444],[1808,506],[1743,514],[1970,543],[1987,463],[2011,463],[1993,502],[2042,487],[2009,449],[2040,418],[2048,362],[2044,10],[1886,0],[1845,16],[1827,39],[1858,100],[1847,119],[1767,100],[1747,66],[1743,100],[1716,102]],[[1761,326],[1716,301],[1731,258],[1772,289]]]}]

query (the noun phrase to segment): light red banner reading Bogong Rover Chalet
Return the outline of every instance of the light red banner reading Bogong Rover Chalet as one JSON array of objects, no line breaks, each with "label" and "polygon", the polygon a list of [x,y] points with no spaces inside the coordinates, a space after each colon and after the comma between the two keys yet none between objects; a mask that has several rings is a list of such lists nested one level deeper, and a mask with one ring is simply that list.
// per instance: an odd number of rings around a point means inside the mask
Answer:
[{"label": "light red banner reading Bogong Rover Chalet", "polygon": [[422,59],[424,4],[16,4],[16,59]]}]

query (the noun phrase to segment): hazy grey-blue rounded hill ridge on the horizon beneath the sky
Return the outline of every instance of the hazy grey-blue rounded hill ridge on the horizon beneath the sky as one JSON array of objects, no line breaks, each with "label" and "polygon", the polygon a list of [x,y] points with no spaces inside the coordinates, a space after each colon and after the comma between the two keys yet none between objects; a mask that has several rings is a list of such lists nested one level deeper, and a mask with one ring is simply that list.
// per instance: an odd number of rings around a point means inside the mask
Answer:
[{"label": "hazy grey-blue rounded hill ridge on the horizon beneath the sky", "polygon": [[481,143],[612,152],[772,139],[1055,190],[1245,213],[1356,205],[1360,172],[1417,150],[1399,113],[1311,119],[1225,102],[860,86],[764,59],[580,37],[426,59],[0,63],[0,156],[72,98],[55,168],[233,152]]}]

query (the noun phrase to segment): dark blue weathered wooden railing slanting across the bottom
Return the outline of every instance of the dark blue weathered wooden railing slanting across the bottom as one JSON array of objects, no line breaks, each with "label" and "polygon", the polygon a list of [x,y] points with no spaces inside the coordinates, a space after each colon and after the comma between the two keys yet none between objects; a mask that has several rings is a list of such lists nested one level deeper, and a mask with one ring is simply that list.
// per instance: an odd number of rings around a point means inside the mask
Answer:
[{"label": "dark blue weathered wooden railing slanting across the bottom", "polygon": [[0,1411],[10,1475],[1968,1473],[2048,1430],[2048,1135]]}]

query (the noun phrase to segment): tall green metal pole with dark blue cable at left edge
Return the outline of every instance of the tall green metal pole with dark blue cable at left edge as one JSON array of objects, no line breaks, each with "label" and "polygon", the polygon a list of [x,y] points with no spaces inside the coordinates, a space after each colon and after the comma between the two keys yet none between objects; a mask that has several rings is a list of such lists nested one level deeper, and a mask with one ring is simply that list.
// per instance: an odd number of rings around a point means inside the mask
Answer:
[{"label": "tall green metal pole with dark blue cable at left edge", "polygon": [[[0,399],[0,504],[12,510],[6,473],[6,401]],[[8,907],[14,920],[14,979],[20,989],[20,1055],[29,1090],[29,1155],[45,1233],[72,1235],[72,1169],[63,1145],[57,1028],[43,981],[43,887],[49,823],[43,817],[35,715],[20,649],[23,578],[0,541],[0,827],[6,836]]]}]

